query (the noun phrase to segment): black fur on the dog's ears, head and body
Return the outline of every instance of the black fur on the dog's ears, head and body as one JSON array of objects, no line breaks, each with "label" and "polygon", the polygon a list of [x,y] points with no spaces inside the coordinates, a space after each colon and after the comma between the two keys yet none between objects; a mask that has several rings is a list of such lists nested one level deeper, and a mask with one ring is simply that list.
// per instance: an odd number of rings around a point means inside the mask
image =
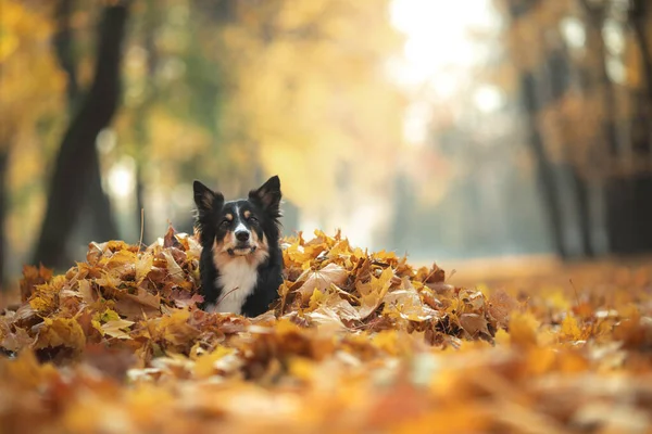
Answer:
[{"label": "black fur on the dog's ears, head and body", "polygon": [[[265,312],[269,304],[278,298],[278,286],[283,283],[283,255],[279,247],[280,238],[280,180],[277,176],[269,178],[261,188],[251,190],[246,200],[224,202],[224,195],[195,181],[195,203],[197,205],[197,229],[200,234],[202,252],[200,257],[200,293],[204,298],[202,308],[215,304],[223,295],[223,288],[217,285],[220,270],[213,260],[215,241],[224,240],[236,221],[246,225],[255,232],[260,240],[267,241],[268,257],[256,268],[258,279],[253,292],[244,299],[241,315],[255,317]],[[238,209],[239,216],[244,212],[255,218],[226,221],[227,214]]]}]

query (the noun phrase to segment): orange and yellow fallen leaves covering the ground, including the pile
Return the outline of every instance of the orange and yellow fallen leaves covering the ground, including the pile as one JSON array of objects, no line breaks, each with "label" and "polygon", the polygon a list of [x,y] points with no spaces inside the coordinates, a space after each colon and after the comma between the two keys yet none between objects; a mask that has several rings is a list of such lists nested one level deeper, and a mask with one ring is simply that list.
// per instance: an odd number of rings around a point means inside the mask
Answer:
[{"label": "orange and yellow fallen leaves covering the ground, including the pile", "polygon": [[478,291],[339,234],[286,241],[254,319],[197,308],[200,247],[172,229],[26,267],[0,432],[652,432],[650,264]]}]

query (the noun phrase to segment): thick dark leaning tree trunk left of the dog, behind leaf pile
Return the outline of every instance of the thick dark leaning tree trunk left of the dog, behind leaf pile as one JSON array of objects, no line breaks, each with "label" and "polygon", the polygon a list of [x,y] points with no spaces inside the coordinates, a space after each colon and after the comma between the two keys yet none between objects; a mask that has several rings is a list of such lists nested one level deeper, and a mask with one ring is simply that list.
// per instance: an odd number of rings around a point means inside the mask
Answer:
[{"label": "thick dark leaning tree trunk left of the dog, behind leaf pile", "polygon": [[127,8],[123,2],[102,11],[93,81],[71,122],[57,157],[34,263],[65,267],[70,261],[65,242],[98,170],[96,138],[111,123],[118,105]]}]

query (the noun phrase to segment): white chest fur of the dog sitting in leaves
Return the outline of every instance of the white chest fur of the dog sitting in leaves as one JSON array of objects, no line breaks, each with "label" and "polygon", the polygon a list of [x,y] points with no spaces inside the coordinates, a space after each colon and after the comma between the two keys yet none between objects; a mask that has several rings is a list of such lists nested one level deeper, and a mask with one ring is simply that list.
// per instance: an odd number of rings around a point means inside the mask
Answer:
[{"label": "white chest fur of the dog sitting in leaves", "polygon": [[222,286],[217,304],[213,311],[241,314],[247,297],[253,293],[258,280],[256,265],[244,258],[229,260],[220,268],[216,284]]}]

